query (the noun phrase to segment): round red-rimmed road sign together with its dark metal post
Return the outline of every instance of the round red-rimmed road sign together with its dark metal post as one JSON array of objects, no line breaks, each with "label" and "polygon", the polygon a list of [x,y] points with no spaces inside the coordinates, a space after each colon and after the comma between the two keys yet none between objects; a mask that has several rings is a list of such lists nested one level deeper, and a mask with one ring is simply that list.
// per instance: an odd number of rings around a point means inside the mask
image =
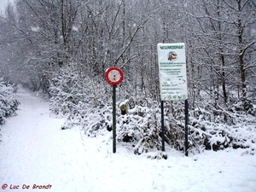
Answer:
[{"label": "round red-rimmed road sign together with its dark metal post", "polygon": [[105,79],[113,85],[113,154],[116,152],[116,85],[124,79],[124,73],[118,67],[110,67],[106,70]]}]

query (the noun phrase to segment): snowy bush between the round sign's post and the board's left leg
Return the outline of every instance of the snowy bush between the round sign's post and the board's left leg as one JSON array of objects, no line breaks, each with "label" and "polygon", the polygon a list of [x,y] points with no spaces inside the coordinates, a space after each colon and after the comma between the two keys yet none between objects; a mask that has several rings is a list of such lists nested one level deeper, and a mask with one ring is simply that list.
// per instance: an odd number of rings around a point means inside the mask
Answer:
[{"label": "snowy bush between the round sign's post and the board's left leg", "polygon": [[[119,107],[128,107],[125,115],[119,115],[117,139],[119,142],[132,143],[135,154],[147,153],[149,150],[160,150],[160,109],[152,100],[131,97],[121,102]],[[151,108],[148,107],[151,106]],[[153,107],[154,106],[154,107]]]}]

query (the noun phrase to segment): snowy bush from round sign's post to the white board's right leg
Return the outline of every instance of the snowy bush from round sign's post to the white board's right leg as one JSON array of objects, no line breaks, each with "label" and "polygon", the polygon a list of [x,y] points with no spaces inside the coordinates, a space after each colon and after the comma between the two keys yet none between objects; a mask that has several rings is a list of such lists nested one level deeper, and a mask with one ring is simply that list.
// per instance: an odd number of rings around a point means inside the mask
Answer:
[{"label": "snowy bush from round sign's post to the white board's right leg", "polygon": [[[125,103],[127,114],[119,116],[119,142],[132,143],[135,154],[161,150],[160,103],[151,99],[132,99]],[[184,106],[182,102],[165,102],[165,137],[167,145],[184,149]],[[131,147],[130,146],[130,147]]]}]

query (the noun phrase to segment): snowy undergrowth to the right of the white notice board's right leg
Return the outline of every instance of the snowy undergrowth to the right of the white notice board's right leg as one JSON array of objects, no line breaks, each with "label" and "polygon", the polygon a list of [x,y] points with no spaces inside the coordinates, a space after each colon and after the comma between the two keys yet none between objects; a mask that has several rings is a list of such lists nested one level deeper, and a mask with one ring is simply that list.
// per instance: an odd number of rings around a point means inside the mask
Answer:
[{"label": "snowy undergrowth to the right of the white notice board's right leg", "polygon": [[207,96],[201,100],[190,110],[190,146],[198,151],[247,148],[248,154],[255,154],[255,105],[248,101],[246,107],[242,106],[236,96],[230,96],[229,104],[213,103]]}]

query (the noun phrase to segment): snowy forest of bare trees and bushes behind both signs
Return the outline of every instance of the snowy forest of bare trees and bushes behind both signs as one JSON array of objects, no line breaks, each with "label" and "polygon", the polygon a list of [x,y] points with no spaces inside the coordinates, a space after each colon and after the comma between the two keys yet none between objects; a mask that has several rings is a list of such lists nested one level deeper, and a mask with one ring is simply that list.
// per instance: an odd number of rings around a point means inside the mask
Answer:
[{"label": "snowy forest of bare trees and bushes behind both signs", "polygon": [[[49,96],[50,110],[95,137],[112,127],[108,67],[117,90],[118,139],[135,154],[160,149],[156,45],[185,43],[189,151],[248,148],[256,140],[253,0],[16,0],[0,17],[2,84]],[[15,90],[15,89],[13,89]],[[15,102],[16,103],[16,102]],[[165,140],[184,150],[183,102],[166,102]],[[91,120],[93,119],[93,120]]]}]

